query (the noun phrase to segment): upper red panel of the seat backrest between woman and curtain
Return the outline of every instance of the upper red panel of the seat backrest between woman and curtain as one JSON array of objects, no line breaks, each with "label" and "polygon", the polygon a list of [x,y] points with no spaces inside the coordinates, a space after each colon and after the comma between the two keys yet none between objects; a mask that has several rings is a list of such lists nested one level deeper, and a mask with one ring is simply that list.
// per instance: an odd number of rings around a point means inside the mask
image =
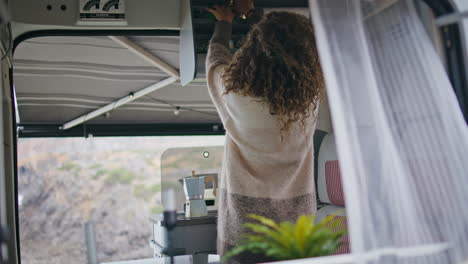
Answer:
[{"label": "upper red panel of the seat backrest between woman and curtain", "polygon": [[330,202],[333,205],[345,206],[340,165],[337,160],[325,162],[325,181]]}]

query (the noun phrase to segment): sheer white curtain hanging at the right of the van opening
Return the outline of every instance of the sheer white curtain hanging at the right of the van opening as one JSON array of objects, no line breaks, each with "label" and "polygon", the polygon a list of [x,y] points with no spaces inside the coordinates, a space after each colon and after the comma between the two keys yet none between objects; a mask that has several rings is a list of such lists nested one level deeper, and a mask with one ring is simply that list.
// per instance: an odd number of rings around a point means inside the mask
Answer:
[{"label": "sheer white curtain hanging at the right of the van opening", "polygon": [[413,2],[310,8],[352,250],[310,263],[468,259],[468,129]]}]

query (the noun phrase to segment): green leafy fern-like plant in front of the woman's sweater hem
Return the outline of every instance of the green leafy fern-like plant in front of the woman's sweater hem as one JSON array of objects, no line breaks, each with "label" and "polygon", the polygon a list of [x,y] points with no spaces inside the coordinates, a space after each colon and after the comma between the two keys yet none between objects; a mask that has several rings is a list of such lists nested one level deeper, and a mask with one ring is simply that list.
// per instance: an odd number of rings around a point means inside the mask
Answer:
[{"label": "green leafy fern-like plant in front of the woman's sweater hem", "polygon": [[296,223],[275,223],[273,220],[249,215],[255,222],[244,227],[243,240],[223,256],[223,261],[243,252],[263,254],[275,260],[312,258],[333,254],[341,245],[345,229],[334,231],[344,219],[331,215],[315,223],[315,215],[299,217]]}]

